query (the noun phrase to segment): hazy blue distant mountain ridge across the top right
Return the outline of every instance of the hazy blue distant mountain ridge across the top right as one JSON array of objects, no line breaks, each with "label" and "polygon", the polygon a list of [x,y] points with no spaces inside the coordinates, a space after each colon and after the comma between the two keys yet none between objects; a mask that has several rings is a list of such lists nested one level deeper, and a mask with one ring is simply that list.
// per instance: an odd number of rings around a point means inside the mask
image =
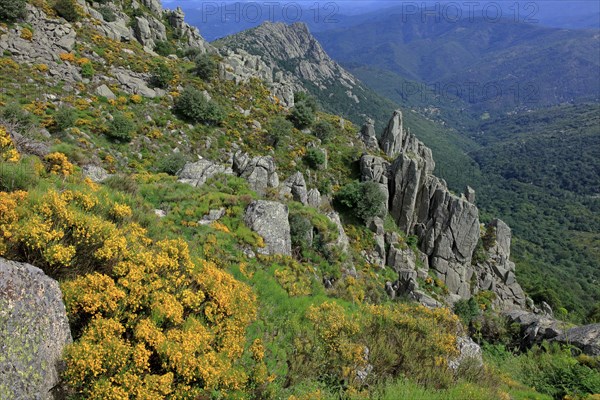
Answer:
[{"label": "hazy blue distant mountain ridge across the top right", "polygon": [[[351,72],[371,66],[458,96],[478,111],[598,99],[600,35],[483,18],[451,23],[386,14],[317,32]],[[567,60],[562,63],[560,60]]]}]

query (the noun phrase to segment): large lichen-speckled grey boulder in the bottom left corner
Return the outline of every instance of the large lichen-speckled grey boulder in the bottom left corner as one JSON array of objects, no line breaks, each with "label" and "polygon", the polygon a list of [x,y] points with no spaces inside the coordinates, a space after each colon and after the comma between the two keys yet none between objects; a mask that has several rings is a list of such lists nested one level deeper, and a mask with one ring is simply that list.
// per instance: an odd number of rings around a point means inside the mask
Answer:
[{"label": "large lichen-speckled grey boulder in the bottom left corner", "polygon": [[0,258],[0,398],[52,399],[71,342],[58,282]]}]

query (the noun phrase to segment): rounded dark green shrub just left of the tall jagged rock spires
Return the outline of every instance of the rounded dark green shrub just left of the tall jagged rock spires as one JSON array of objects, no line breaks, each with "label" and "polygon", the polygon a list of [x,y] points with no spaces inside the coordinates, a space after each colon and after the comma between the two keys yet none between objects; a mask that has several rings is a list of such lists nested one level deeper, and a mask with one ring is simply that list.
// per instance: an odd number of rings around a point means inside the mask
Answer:
[{"label": "rounded dark green shrub just left of the tall jagged rock spires", "polygon": [[353,181],[340,189],[335,201],[355,217],[368,220],[385,212],[385,194],[375,182]]}]

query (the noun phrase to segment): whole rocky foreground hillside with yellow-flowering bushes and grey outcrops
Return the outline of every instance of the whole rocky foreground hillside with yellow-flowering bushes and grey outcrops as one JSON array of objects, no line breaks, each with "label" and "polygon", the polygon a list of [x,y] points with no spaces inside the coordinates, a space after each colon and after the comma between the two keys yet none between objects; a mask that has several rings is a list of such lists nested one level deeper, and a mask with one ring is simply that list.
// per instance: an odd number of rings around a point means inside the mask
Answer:
[{"label": "whole rocky foreground hillside with yellow-flowering bushes and grey outcrops", "polygon": [[[433,174],[401,111],[381,135],[319,111],[307,82],[346,82],[352,107],[361,85],[303,26],[258,28],[290,40],[269,59],[153,1],[19,5],[0,7],[0,397],[541,396],[538,352],[482,368],[469,337],[516,349],[500,311],[550,318],[510,228]],[[278,70],[288,46],[322,62]],[[557,347],[557,396],[600,390],[597,329],[588,358]]]}]

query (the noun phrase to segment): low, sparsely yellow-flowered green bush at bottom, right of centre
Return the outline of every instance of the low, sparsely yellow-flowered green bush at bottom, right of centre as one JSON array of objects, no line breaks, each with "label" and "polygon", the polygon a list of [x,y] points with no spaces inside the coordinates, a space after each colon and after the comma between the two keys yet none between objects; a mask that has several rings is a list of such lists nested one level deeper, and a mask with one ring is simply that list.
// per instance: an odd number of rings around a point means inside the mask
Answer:
[{"label": "low, sparsely yellow-flowered green bush at bottom, right of centre", "polygon": [[[458,318],[445,308],[395,303],[351,311],[326,301],[308,308],[308,329],[296,335],[289,376],[342,385],[346,394],[403,375],[435,388],[455,379]],[[367,371],[362,374],[361,371]]]}]

